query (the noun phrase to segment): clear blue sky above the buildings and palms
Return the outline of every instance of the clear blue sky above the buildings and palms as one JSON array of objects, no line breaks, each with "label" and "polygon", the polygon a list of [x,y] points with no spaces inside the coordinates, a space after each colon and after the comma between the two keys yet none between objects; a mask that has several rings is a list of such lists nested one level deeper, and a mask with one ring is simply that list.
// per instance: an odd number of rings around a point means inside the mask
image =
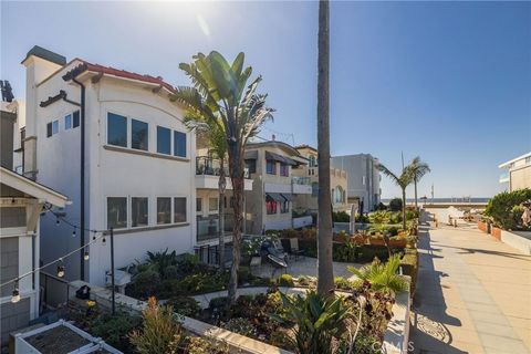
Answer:
[{"label": "clear blue sky above the buildings and palms", "polygon": [[[316,2],[0,6],[1,79],[17,96],[34,44],[175,85],[198,51],[243,51],[278,111],[267,128],[316,144]],[[392,169],[420,155],[433,168],[420,195],[492,196],[498,164],[531,150],[530,2],[333,2],[331,71],[332,153]],[[398,194],[384,178],[383,196]]]}]

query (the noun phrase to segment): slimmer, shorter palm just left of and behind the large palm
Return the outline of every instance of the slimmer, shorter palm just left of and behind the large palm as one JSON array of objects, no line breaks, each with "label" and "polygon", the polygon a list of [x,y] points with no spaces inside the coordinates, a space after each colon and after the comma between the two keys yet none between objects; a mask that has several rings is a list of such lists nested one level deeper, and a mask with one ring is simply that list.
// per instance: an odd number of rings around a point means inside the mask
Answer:
[{"label": "slimmer, shorter palm just left of and behind the large palm", "polygon": [[227,176],[225,171],[225,160],[227,158],[227,140],[220,124],[212,124],[206,117],[195,115],[195,112],[185,113],[185,125],[189,131],[208,142],[209,152],[219,159],[219,180],[218,180],[218,205],[219,205],[219,270],[225,270],[225,190],[227,189]]}]

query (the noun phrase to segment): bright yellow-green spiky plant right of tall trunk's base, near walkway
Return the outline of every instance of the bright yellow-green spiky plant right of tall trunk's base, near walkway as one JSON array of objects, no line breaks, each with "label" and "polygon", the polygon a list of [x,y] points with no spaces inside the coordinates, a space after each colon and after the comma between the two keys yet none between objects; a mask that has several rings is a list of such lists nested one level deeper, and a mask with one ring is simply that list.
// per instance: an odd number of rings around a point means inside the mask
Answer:
[{"label": "bright yellow-green spiky plant right of tall trunk's base, near walkway", "polygon": [[407,281],[397,273],[399,266],[400,257],[395,254],[386,263],[375,259],[369,266],[364,266],[361,269],[351,266],[348,271],[357,277],[357,283],[362,284],[367,281],[371,283],[371,289],[394,294],[407,289]]}]

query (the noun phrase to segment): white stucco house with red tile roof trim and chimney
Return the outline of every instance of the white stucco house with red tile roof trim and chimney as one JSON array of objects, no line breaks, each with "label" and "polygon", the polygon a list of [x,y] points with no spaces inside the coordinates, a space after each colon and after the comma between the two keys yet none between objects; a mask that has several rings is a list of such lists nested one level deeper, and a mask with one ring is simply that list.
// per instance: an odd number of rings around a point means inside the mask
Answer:
[{"label": "white stucco house with red tile roof trim and chimney", "polygon": [[[73,200],[61,210],[72,223],[114,228],[116,268],[149,250],[191,252],[196,143],[183,123],[181,107],[168,98],[173,86],[162,77],[81,59],[66,63],[40,46],[22,64],[24,175]],[[46,236],[41,239],[43,262],[94,237],[55,221],[48,217],[41,226]],[[111,270],[108,243],[91,244],[87,261],[82,253],[69,259],[66,278],[104,284]]]}]

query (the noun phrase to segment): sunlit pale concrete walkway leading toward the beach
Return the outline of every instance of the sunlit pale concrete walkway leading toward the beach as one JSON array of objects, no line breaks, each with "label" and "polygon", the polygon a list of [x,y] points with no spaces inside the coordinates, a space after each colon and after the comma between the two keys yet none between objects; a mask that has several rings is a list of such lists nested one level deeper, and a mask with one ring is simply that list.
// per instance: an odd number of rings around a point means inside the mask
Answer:
[{"label": "sunlit pale concrete walkway leading toward the beach", "polygon": [[420,228],[413,353],[531,353],[531,257],[471,226]]}]

